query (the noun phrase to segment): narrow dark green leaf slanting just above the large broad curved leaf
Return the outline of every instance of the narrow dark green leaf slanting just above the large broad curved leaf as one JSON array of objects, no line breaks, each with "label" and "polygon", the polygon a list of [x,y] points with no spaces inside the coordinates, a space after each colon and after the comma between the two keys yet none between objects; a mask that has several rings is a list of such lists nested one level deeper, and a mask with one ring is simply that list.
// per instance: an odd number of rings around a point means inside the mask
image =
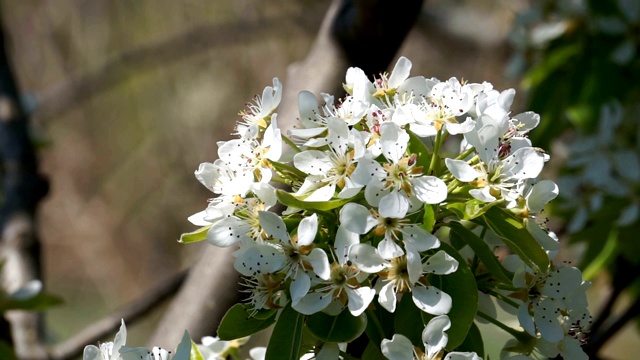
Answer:
[{"label": "narrow dark green leaf slanting just above the large broad curved leaf", "polygon": [[478,259],[482,261],[491,275],[505,284],[511,284],[513,274],[502,266],[489,247],[489,244],[487,244],[478,235],[474,234],[471,230],[465,228],[459,222],[449,222],[449,226],[451,227],[451,233],[449,236],[451,236],[452,242],[457,240],[464,241],[464,243],[471,247],[473,252],[476,254]]}]

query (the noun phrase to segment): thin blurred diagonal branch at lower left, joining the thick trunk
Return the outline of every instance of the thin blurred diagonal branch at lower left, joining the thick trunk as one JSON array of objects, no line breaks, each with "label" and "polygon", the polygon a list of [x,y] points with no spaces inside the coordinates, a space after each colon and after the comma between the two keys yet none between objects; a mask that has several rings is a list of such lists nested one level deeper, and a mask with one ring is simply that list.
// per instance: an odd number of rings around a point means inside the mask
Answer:
[{"label": "thin blurred diagonal branch at lower left, joining the thick trunk", "polygon": [[165,280],[156,288],[147,291],[145,296],[130,303],[121,310],[93,323],[89,327],[74,335],[62,344],[57,345],[49,354],[51,360],[68,360],[80,354],[88,344],[94,344],[113,333],[120,326],[120,319],[125,319],[127,325],[142,318],[163,301],[175,294],[185,278],[187,271],[180,272]]}]

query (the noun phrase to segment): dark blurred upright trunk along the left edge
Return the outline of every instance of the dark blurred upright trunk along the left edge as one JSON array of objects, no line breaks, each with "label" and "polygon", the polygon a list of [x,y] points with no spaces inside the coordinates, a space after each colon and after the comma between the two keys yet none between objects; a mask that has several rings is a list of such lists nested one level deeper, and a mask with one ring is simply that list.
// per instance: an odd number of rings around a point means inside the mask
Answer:
[{"label": "dark blurred upright trunk along the left edge", "polygon": [[[13,72],[0,26],[0,157],[2,201],[0,206],[0,259],[2,286],[11,293],[40,278],[40,243],[36,236],[35,211],[46,195],[48,183],[38,173],[35,151],[27,130],[27,117],[18,101]],[[11,310],[5,314],[11,339],[20,359],[44,359],[41,316]]]}]

